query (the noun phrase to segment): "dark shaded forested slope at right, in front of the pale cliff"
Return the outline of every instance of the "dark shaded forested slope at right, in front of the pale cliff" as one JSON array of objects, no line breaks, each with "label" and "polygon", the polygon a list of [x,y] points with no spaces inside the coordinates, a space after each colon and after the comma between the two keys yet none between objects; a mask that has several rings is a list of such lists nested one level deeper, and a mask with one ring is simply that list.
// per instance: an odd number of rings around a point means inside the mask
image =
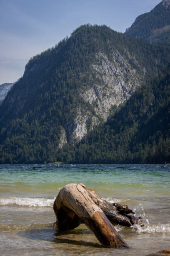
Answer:
[{"label": "dark shaded forested slope at right, in front of the pale cliff", "polygon": [[170,67],[138,89],[107,123],[60,160],[76,163],[160,164],[170,162]]}]

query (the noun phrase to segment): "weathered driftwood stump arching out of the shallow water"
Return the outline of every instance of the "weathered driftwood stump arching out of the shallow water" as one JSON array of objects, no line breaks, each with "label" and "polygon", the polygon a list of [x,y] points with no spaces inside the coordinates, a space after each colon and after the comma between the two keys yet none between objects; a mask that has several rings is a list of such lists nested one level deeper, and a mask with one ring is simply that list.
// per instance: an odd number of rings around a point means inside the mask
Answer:
[{"label": "weathered driftwood stump arching out of the shallow water", "polygon": [[100,243],[116,248],[128,248],[112,224],[130,227],[134,223],[143,225],[141,218],[127,205],[119,205],[102,200],[94,190],[85,189],[85,185],[67,184],[57,195],[54,205],[56,222],[54,227],[59,231],[76,228],[85,223],[92,230]]}]

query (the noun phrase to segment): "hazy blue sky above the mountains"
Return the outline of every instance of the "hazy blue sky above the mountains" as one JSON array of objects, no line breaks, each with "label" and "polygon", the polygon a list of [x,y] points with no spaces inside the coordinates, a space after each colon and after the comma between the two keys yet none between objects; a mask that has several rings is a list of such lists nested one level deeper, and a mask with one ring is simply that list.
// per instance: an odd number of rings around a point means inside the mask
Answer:
[{"label": "hazy blue sky above the mountains", "polygon": [[0,0],[0,84],[15,82],[30,57],[82,24],[125,32],[160,0]]}]

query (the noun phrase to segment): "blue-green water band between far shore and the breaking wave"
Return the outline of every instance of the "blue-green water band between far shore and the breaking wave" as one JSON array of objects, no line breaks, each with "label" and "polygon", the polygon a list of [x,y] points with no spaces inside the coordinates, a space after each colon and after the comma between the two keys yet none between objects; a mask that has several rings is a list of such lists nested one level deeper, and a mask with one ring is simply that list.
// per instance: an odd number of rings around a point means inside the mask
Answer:
[{"label": "blue-green water band between far shore and the breaking wave", "polygon": [[140,196],[141,192],[142,197],[161,197],[169,196],[170,190],[168,165],[2,165],[0,177],[1,195],[3,189],[8,193],[13,189],[15,195],[26,189],[29,195],[33,190],[39,197],[41,193],[55,196],[58,189],[73,182],[109,197]]}]

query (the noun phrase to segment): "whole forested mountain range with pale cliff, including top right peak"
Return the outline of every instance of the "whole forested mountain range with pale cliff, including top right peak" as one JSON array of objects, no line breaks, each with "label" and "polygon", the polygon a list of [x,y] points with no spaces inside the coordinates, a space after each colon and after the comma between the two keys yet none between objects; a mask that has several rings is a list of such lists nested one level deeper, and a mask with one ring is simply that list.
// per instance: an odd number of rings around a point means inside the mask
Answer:
[{"label": "whole forested mountain range with pale cliff, including top right peak", "polygon": [[31,58],[0,105],[0,163],[170,161],[169,2]]}]

